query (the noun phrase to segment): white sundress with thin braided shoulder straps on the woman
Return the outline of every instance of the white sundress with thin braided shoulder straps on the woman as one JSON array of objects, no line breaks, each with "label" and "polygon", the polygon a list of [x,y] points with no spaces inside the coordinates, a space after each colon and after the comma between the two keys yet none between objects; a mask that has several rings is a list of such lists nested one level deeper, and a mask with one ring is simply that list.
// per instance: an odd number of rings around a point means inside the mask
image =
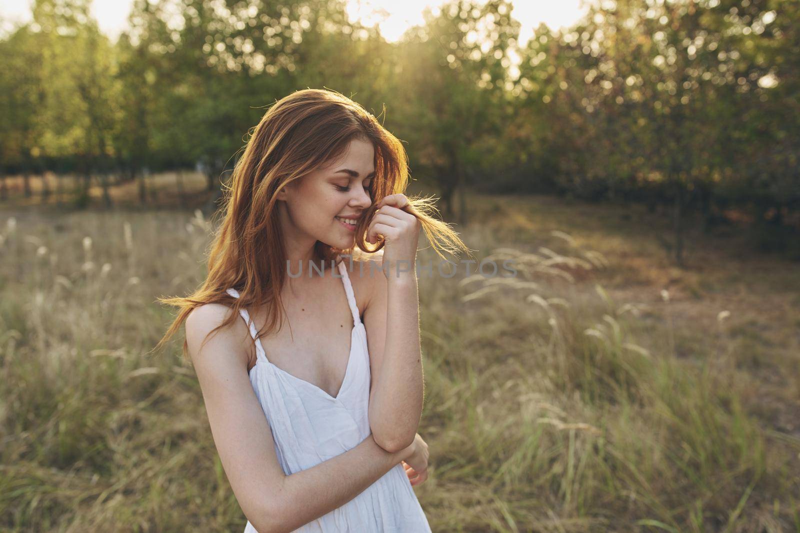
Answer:
[{"label": "white sundress with thin braided shoulder straps on the woman", "polygon": [[[366,329],[358,316],[353,286],[344,261],[338,264],[353,313],[350,359],[337,396],[278,368],[266,358],[255,324],[240,311],[255,340],[256,364],[250,383],[258,396],[286,475],[314,467],[348,451],[370,436],[370,355]],[[334,277],[336,273],[334,272]],[[230,296],[239,297],[234,288]],[[265,495],[265,497],[267,497]],[[430,525],[402,463],[386,472],[354,499],[294,530],[295,533],[430,533]],[[244,533],[258,533],[250,521]]]}]

